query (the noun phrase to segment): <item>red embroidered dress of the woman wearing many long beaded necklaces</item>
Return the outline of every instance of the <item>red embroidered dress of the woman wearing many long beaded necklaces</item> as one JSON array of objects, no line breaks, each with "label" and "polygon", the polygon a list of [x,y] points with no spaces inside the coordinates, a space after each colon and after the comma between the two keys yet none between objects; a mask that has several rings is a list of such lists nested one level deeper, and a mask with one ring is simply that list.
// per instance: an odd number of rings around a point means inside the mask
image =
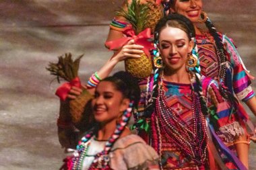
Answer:
[{"label": "red embroidered dress of the woman wearing many long beaded necklaces", "polygon": [[[212,153],[210,142],[215,144],[218,155],[222,156],[218,157],[223,162],[222,166],[238,169],[236,163],[228,161],[231,157],[238,161],[231,154],[232,151],[223,155],[221,147],[226,146],[222,140],[232,142],[234,138],[244,134],[244,130],[236,121],[237,114],[230,114],[230,103],[220,95],[218,83],[210,78],[202,79],[203,95],[207,107],[212,110],[207,116],[201,112],[201,105],[193,93],[191,84],[167,81],[162,84],[154,112],[148,117],[147,113],[143,112],[143,107],[148,104],[147,100],[150,98],[152,77],[140,82],[141,105],[139,112],[135,114],[139,135],[158,151],[161,169],[209,169],[210,166],[216,165],[212,163],[212,160],[216,159],[213,158],[216,153]],[[238,161],[238,164],[241,165],[241,162]]]}]

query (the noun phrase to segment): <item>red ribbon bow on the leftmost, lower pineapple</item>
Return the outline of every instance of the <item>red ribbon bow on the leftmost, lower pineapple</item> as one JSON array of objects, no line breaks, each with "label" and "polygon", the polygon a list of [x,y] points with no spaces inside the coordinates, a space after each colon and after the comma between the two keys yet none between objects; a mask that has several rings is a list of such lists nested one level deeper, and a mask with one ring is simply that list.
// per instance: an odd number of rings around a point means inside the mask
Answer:
[{"label": "red ribbon bow on the leftmost, lower pineapple", "polygon": [[62,101],[65,101],[65,99],[67,99],[67,95],[68,95],[69,91],[71,90],[72,86],[81,87],[81,81],[80,81],[79,77],[75,77],[75,79],[71,80],[68,83],[63,83],[63,85],[61,85],[57,89],[57,91],[55,92],[55,95],[59,96],[59,98]]}]

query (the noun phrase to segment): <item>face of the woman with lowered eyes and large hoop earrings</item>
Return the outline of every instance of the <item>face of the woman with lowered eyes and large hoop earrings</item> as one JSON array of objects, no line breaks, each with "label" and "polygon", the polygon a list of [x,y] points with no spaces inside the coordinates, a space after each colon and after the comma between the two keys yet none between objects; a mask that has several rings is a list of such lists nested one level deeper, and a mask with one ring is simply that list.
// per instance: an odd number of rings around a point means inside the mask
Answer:
[{"label": "face of the woman with lowered eyes and large hoop earrings", "polygon": [[193,49],[186,32],[179,28],[166,27],[159,35],[159,46],[162,61],[169,71],[186,69],[188,54]]}]

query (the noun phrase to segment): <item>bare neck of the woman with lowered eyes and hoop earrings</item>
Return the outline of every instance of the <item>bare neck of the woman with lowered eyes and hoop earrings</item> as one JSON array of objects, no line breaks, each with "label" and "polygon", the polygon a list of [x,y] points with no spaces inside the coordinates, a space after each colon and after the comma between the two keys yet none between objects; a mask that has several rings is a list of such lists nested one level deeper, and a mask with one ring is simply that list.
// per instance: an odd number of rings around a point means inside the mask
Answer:
[{"label": "bare neck of the woman with lowered eyes and hoop earrings", "polygon": [[189,73],[185,70],[166,71],[164,70],[164,80],[172,83],[191,83]]}]

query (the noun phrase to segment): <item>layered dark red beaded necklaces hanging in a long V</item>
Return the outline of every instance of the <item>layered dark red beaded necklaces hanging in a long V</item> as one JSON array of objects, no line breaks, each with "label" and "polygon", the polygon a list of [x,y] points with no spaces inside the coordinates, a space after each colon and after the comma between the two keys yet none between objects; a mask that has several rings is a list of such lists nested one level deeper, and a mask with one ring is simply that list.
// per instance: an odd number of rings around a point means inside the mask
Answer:
[{"label": "layered dark red beaded necklaces hanging in a long V", "polygon": [[189,128],[186,122],[168,107],[162,81],[161,77],[158,97],[156,99],[158,126],[192,161],[199,166],[204,165],[207,159],[207,134],[205,118],[201,113],[199,96],[192,90],[193,128]]}]

